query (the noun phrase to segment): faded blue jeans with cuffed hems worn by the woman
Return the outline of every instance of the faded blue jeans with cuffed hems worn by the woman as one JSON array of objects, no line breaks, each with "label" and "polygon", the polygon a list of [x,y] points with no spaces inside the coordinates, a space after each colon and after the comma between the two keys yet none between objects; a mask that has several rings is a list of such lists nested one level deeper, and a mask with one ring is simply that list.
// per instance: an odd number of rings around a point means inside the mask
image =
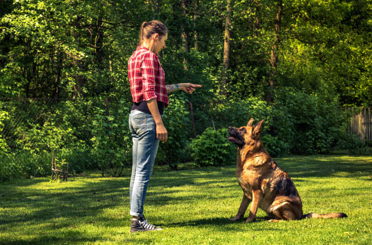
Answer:
[{"label": "faded blue jeans with cuffed hems worn by the woman", "polygon": [[151,114],[138,110],[131,111],[129,128],[133,140],[133,166],[129,186],[130,215],[143,217],[143,203],[159,139],[156,138],[156,124]]}]

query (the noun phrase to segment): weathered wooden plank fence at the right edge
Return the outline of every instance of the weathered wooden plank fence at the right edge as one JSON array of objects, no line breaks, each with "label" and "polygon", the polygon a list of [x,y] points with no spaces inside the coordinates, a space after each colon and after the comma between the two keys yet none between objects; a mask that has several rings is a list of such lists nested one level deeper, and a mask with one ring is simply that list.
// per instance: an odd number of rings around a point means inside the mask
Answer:
[{"label": "weathered wooden plank fence at the right edge", "polygon": [[350,115],[349,131],[358,135],[359,139],[364,142],[372,141],[371,107],[359,109],[345,107],[345,111]]}]

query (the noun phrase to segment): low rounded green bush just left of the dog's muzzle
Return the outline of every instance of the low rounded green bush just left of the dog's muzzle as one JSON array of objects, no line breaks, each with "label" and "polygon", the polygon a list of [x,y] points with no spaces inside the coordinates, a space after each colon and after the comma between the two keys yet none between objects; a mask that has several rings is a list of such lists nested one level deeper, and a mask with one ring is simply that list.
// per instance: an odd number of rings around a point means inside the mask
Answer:
[{"label": "low rounded green bush just left of the dog's muzzle", "polygon": [[208,127],[188,146],[195,163],[200,167],[232,164],[236,147],[227,140],[228,137],[227,128],[213,130]]}]

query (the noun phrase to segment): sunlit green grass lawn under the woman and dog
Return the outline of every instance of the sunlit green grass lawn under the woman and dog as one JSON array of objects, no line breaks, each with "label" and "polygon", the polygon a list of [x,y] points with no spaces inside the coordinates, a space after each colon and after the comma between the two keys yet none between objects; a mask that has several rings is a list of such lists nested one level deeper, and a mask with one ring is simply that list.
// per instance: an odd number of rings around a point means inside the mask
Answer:
[{"label": "sunlit green grass lawn under the woman and dog", "polygon": [[232,222],[243,196],[235,167],[167,171],[156,167],[145,216],[163,231],[129,233],[130,170],[92,173],[67,183],[35,178],[0,184],[0,244],[372,244],[372,157],[290,156],[276,159],[290,174],[303,212],[349,218]]}]

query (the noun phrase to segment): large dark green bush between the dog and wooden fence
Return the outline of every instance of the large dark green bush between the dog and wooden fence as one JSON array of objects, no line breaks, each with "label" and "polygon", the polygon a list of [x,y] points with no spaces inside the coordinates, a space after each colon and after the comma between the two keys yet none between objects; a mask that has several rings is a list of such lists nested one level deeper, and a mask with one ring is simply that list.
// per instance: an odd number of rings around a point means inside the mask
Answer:
[{"label": "large dark green bush between the dog and wooden fence", "polygon": [[275,107],[285,117],[278,123],[288,126],[277,124],[277,135],[290,145],[292,153],[326,153],[341,144],[346,118],[337,99],[282,89],[277,91]]}]

